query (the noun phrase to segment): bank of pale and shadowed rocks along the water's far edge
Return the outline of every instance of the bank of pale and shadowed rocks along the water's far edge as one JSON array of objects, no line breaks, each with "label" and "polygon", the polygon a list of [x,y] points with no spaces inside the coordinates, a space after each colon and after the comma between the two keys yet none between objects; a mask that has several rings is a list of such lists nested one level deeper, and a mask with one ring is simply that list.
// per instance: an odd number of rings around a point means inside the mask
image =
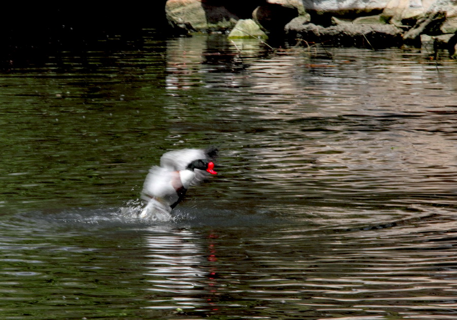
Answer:
[{"label": "bank of pale and shadowed rocks along the water's far edge", "polygon": [[423,46],[457,57],[457,0],[168,0],[165,9],[180,34],[372,49]]}]

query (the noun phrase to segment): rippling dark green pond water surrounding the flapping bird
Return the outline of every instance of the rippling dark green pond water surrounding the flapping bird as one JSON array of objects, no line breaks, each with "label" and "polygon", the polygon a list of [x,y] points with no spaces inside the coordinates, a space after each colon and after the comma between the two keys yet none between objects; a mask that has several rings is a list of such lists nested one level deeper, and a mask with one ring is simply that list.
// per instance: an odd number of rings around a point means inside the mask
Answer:
[{"label": "rippling dark green pond water surrounding the flapping bird", "polygon": [[[146,32],[0,75],[2,319],[457,318],[457,64]],[[171,221],[160,155],[220,148]]]}]

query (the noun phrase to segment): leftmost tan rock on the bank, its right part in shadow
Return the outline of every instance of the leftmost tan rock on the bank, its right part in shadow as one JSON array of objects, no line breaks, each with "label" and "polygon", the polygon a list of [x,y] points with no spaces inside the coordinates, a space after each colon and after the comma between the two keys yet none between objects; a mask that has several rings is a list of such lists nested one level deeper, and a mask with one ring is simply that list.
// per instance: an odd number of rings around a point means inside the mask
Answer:
[{"label": "leftmost tan rock on the bank, its right part in shadow", "polygon": [[165,13],[174,28],[187,32],[223,31],[232,28],[239,19],[224,6],[201,0],[168,0]]}]

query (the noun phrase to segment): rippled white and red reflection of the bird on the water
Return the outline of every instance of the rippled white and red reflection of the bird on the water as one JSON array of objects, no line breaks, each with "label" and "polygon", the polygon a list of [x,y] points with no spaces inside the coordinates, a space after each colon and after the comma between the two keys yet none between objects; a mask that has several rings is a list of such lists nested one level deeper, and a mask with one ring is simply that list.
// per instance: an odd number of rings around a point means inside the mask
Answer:
[{"label": "rippled white and red reflection of the bird on the water", "polygon": [[[208,237],[211,238],[211,235]],[[212,288],[216,281],[217,261],[214,244],[199,245],[197,237],[187,230],[172,230],[145,237],[149,249],[148,291],[156,292],[157,300],[150,300],[152,309],[196,308],[211,306]]]}]

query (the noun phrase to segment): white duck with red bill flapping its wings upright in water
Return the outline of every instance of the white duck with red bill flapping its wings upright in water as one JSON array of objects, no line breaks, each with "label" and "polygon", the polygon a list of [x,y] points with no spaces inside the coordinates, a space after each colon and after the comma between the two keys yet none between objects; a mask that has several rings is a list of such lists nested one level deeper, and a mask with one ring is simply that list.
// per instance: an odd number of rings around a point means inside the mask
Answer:
[{"label": "white duck with red bill flapping its wings upright in water", "polygon": [[181,149],[165,153],[160,167],[154,166],[144,181],[141,197],[147,202],[140,217],[169,219],[171,210],[184,198],[187,189],[214,171],[217,148]]}]

